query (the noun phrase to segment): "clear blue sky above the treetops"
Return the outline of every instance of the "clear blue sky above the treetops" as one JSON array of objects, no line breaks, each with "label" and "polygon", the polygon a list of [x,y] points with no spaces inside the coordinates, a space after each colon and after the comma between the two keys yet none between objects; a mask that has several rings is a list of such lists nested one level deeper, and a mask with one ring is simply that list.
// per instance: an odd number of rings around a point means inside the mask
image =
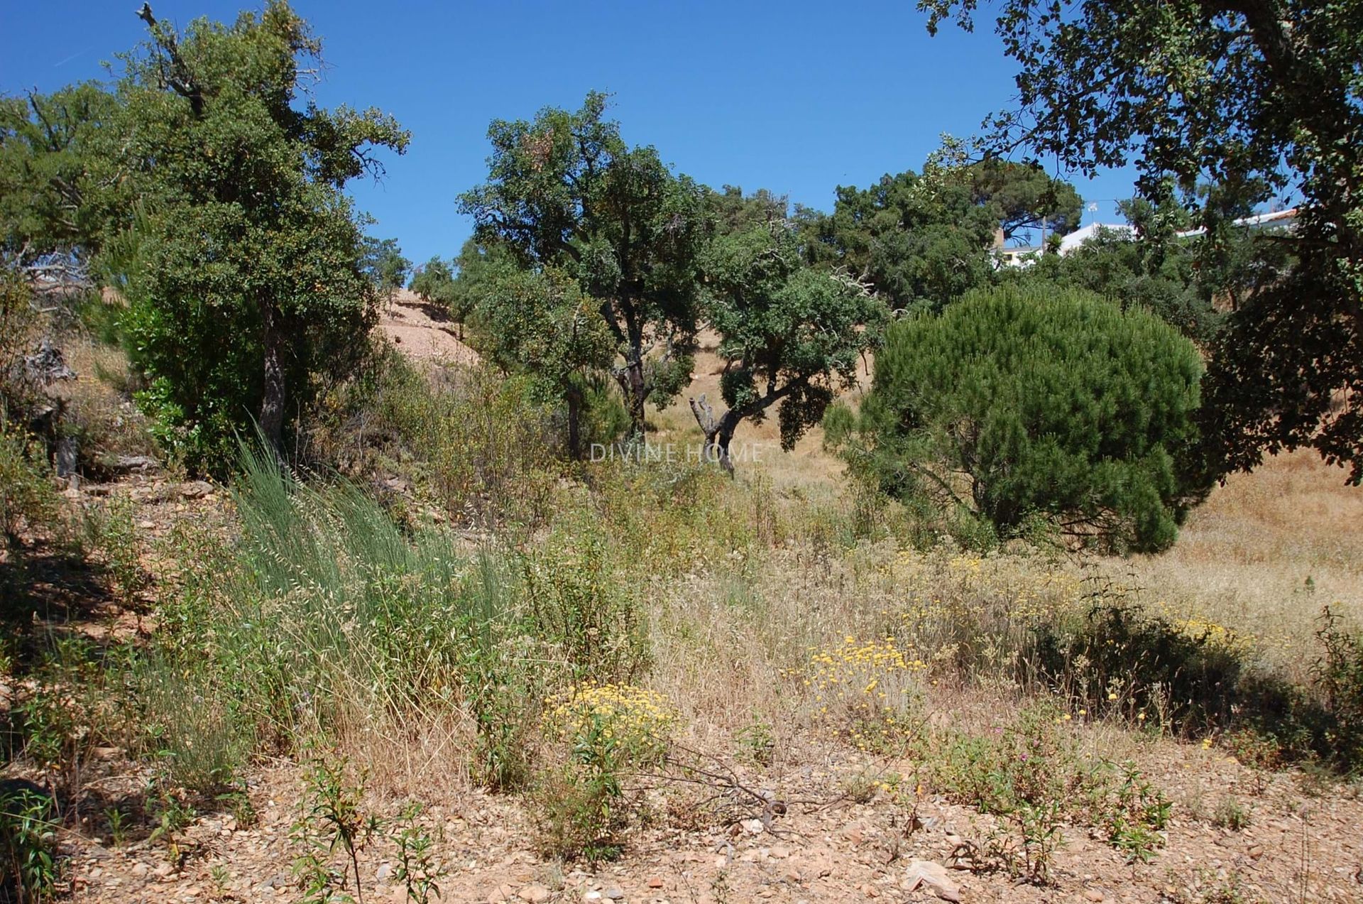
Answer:
[{"label": "clear blue sky above the treetops", "polygon": [[[0,91],[102,78],[144,38],[140,0],[0,0]],[[453,255],[470,224],[455,195],[485,175],[488,121],[613,93],[626,140],[653,145],[710,185],[770,188],[827,210],[840,184],[919,169],[940,132],[975,134],[1005,106],[1014,68],[990,30],[930,38],[898,3],[357,3],[297,0],[323,38],[324,105],[380,106],[412,130],[380,184],[354,183],[371,232],[414,262]],[[232,20],[248,0],[159,0],[180,26]],[[1078,183],[1099,211],[1131,173]]]}]

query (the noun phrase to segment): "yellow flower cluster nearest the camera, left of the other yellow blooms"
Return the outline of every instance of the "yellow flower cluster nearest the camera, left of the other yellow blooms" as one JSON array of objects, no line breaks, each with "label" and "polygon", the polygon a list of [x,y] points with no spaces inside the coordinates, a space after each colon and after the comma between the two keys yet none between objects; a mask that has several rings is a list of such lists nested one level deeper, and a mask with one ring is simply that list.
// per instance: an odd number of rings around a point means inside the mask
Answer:
[{"label": "yellow flower cluster nearest the camera, left of the other yellow blooms", "polygon": [[571,743],[613,743],[632,757],[657,757],[677,716],[657,693],[634,684],[582,684],[549,701],[547,734]]}]

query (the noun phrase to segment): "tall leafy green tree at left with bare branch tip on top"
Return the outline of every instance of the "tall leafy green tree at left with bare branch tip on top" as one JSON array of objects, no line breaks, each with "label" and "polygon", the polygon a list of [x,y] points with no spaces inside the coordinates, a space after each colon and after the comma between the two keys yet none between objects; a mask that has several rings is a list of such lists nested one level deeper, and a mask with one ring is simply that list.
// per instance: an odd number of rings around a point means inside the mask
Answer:
[{"label": "tall leafy green tree at left with bare branch tip on top", "polygon": [[408,134],[379,110],[298,109],[320,42],[286,3],[184,34],[139,15],[151,40],[123,57],[108,147],[139,196],[127,326],[143,402],[213,464],[252,413],[279,447],[309,375],[367,349],[376,292],[342,187]]}]

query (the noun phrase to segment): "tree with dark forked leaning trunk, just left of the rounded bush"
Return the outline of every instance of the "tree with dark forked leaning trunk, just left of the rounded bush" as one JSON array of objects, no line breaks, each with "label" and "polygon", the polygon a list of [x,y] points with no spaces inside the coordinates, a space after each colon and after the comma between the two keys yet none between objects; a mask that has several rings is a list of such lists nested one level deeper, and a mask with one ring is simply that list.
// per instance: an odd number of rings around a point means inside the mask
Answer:
[{"label": "tree with dark forked leaning trunk, just left of the rounded bush", "polygon": [[849,277],[804,260],[784,200],[769,192],[743,199],[726,187],[713,203],[726,229],[705,255],[705,316],[720,334],[728,410],[716,417],[705,395],[690,404],[707,458],[733,473],[729,445],[743,420],[761,421],[780,404],[781,447],[789,450],[836,390],[856,385],[857,359],[885,307]]}]

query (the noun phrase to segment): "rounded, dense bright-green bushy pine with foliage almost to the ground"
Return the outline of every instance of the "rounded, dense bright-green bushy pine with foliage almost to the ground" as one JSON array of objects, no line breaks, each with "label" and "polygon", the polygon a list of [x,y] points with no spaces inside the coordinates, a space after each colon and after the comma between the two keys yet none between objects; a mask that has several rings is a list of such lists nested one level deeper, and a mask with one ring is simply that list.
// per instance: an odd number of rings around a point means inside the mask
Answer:
[{"label": "rounded, dense bright-green bushy pine with foliage almost to the ground", "polygon": [[[1056,286],[972,292],[890,326],[853,465],[1013,536],[1037,515],[1105,547],[1174,543],[1204,483],[1197,349],[1154,315]],[[848,438],[833,435],[833,440]]]}]

